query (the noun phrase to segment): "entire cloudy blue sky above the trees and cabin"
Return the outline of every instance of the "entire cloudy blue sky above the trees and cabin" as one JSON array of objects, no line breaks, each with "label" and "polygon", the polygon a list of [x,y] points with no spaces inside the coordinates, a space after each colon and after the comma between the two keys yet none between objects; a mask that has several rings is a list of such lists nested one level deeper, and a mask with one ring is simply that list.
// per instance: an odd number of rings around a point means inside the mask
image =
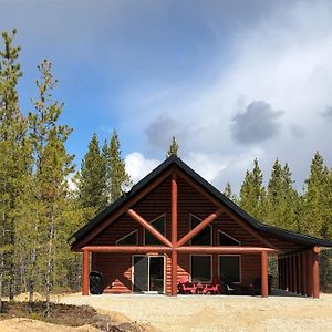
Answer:
[{"label": "entire cloudy blue sky above the trees and cabin", "polygon": [[236,190],[255,157],[266,178],[288,162],[298,188],[317,149],[331,166],[331,1],[0,0],[21,105],[49,59],[77,165],[93,133],[116,128],[137,180],[176,135],[185,162]]}]

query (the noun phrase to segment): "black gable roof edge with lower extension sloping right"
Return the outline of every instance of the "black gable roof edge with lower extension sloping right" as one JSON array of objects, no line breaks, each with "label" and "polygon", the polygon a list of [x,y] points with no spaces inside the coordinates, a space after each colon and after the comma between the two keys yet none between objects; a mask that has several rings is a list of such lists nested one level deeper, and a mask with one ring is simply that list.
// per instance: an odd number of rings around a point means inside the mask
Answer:
[{"label": "black gable roof edge with lower extension sloping right", "polygon": [[102,224],[106,217],[112,215],[112,212],[114,212],[124,204],[126,204],[129,200],[129,198],[138,194],[142,188],[147,186],[152,180],[157,178],[160,174],[163,174],[166,169],[170,168],[172,166],[177,166],[178,168],[180,168],[186,175],[188,175],[196,183],[198,183],[203,188],[205,188],[209,194],[211,194],[215,198],[217,198],[221,204],[229,207],[236,215],[238,215],[240,218],[247,221],[256,230],[266,232],[267,235],[270,234],[272,236],[277,236],[284,240],[297,242],[308,247],[310,246],[332,247],[331,240],[319,239],[308,235],[284,230],[278,227],[266,225],[255,219],[253,217],[248,215],[243,209],[238,207],[234,201],[228,199],[222,193],[220,193],[211,184],[205,180],[200,175],[198,175],[193,168],[190,168],[180,158],[174,155],[168,157],[164,163],[162,163],[158,167],[156,167],[153,172],[151,172],[147,176],[145,176],[141,181],[138,181],[135,186],[133,186],[129,193],[122,195],[117,200],[115,200],[103,211],[97,214],[91,221],[89,221],[75,234],[73,234],[69,239],[69,241],[72,241],[74,239],[72,247],[74,247],[75,243],[77,243],[81,239],[83,239],[86,235],[89,235],[89,232],[92,229],[94,229],[100,224]]}]

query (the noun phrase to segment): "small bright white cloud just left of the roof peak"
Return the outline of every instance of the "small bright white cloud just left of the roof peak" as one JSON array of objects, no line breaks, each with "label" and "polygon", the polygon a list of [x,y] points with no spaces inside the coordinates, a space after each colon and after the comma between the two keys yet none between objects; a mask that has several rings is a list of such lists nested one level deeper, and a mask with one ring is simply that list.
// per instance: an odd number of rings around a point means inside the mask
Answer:
[{"label": "small bright white cloud just left of the roof peak", "polygon": [[157,159],[146,159],[143,154],[133,152],[125,157],[125,168],[136,184],[160,164]]}]

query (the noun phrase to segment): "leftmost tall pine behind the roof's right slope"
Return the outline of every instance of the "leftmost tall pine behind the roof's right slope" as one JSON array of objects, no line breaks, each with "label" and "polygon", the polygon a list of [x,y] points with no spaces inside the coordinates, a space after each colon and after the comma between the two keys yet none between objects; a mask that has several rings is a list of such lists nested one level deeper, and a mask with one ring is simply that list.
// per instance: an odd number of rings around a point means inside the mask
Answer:
[{"label": "leftmost tall pine behind the roof's right slope", "polygon": [[253,160],[252,172],[247,170],[240,188],[239,205],[248,214],[258,219],[266,216],[266,189],[262,186],[263,176],[259,168],[258,160]]}]

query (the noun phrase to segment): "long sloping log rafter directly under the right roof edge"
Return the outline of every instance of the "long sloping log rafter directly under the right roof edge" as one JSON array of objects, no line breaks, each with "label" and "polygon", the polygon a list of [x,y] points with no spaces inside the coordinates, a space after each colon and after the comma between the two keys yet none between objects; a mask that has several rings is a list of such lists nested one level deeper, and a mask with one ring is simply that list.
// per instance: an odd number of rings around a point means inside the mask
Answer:
[{"label": "long sloping log rafter directly under the right roof edge", "polygon": [[210,193],[205,190],[201,186],[199,186],[194,179],[191,179],[187,174],[178,170],[178,175],[184,178],[190,186],[193,186],[198,193],[205,196],[208,200],[215,204],[216,207],[221,209],[222,211],[231,215],[232,219],[237,221],[242,228],[245,228],[249,234],[251,234],[255,238],[260,240],[264,246],[273,249],[278,249],[270,241],[268,241],[264,237],[262,237],[256,229],[249,226],[245,220],[242,220],[232,209],[228,206],[220,204],[219,199],[215,198]]}]

